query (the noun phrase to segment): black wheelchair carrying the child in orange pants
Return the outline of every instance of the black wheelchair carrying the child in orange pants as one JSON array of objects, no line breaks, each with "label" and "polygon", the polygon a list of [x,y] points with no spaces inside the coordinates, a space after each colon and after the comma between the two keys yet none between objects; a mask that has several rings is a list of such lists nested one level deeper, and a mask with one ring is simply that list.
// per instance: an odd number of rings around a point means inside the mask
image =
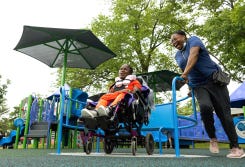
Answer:
[{"label": "black wheelchair carrying the child in orange pants", "polygon": [[[148,155],[152,155],[154,151],[153,135],[151,133],[142,135],[141,133],[142,126],[149,124],[151,114],[150,93],[152,93],[150,88],[143,85],[140,91],[134,94],[126,94],[124,99],[113,109],[110,116],[81,117],[88,136],[84,146],[85,152],[91,153],[91,138],[97,135],[104,138],[104,152],[106,154],[111,154],[115,147],[131,145],[132,154],[136,155],[137,146],[140,145],[146,148]],[[95,106],[96,102],[90,101],[86,107],[94,109]],[[99,135],[95,133],[98,129],[102,130]]]}]

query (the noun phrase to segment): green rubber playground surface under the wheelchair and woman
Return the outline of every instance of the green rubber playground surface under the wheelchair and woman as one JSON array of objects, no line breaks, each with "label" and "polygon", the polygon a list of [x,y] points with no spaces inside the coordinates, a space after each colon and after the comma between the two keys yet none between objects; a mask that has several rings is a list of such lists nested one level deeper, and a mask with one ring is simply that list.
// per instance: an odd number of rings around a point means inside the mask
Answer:
[{"label": "green rubber playground surface under the wheelchair and woman", "polygon": [[[244,148],[244,146],[242,146]],[[147,155],[144,148],[138,148],[133,156],[130,148],[115,148],[111,154],[103,149],[89,155],[83,149],[62,149],[58,155],[56,149],[1,149],[0,166],[6,167],[244,167],[245,158],[228,159],[228,149],[221,149],[219,154],[211,154],[208,149],[180,149],[180,157],[175,156],[174,149],[163,149],[163,154],[155,149],[153,155]]]}]

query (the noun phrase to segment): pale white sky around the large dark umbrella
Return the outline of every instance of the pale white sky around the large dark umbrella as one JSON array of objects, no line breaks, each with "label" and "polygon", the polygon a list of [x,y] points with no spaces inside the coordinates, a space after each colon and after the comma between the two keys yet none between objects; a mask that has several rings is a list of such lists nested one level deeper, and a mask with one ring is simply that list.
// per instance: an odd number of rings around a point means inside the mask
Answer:
[{"label": "pale white sky around the large dark umbrella", "polygon": [[[13,50],[22,35],[23,26],[82,29],[98,14],[108,15],[110,0],[8,0],[0,2],[0,75],[2,83],[11,80],[6,95],[10,110],[33,94],[48,96],[57,69]],[[238,87],[230,84],[232,93]]]}]

